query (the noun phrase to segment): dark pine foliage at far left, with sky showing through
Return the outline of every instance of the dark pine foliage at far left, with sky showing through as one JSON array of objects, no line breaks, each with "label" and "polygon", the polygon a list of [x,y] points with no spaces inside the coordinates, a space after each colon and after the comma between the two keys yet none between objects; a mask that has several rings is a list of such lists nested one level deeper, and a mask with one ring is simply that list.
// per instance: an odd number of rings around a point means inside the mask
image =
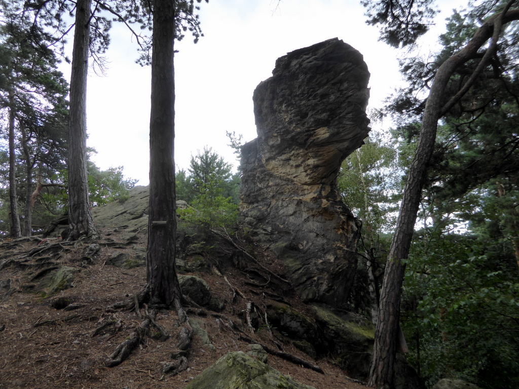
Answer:
[{"label": "dark pine foliage at far left, with sky showing through", "polygon": [[15,178],[9,185],[16,188],[12,203],[18,215],[12,223],[21,219],[21,232],[30,235],[31,226],[41,223],[39,216],[46,212],[42,207],[34,209],[31,202],[36,182],[51,185],[49,177],[65,166],[68,85],[58,71],[57,55],[49,48],[49,36],[34,28],[33,21],[19,12],[19,5],[0,3],[0,115],[10,119],[0,127],[14,146]]}]

